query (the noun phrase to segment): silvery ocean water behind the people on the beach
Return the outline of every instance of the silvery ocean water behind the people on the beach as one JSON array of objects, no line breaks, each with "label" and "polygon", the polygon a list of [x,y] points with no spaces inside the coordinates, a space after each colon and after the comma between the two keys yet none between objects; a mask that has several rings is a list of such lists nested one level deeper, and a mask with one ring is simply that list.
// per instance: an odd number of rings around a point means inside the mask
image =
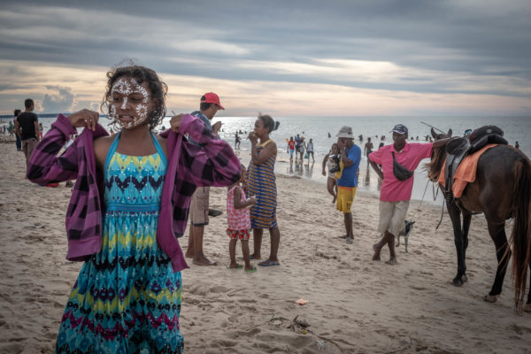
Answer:
[{"label": "silvery ocean water behind the people on the beach", "polygon": [[[354,136],[362,152],[367,142],[367,137],[371,137],[374,149],[378,148],[381,142],[381,135],[385,135],[384,144],[392,143],[392,133],[389,131],[396,124],[404,124],[409,129],[410,139],[413,138],[417,142],[426,142],[426,135],[430,135],[430,127],[437,127],[444,132],[449,129],[452,130],[453,135],[463,135],[466,129],[475,129],[486,125],[495,125],[504,130],[504,138],[512,145],[519,142],[520,150],[522,150],[528,157],[531,156],[531,139],[529,133],[531,132],[531,117],[273,117],[275,120],[281,122],[278,130],[274,131],[270,136],[277,143],[279,155],[275,165],[275,173],[286,175],[297,175],[304,179],[311,179],[319,181],[326,189],[327,177],[321,174],[321,164],[324,156],[330,150],[333,142],[336,142],[335,135],[343,126],[352,127]],[[169,127],[170,117],[166,117],[159,128]],[[250,160],[250,141],[247,135],[254,128],[256,117],[214,117],[212,122],[220,120],[222,122],[219,136],[221,139],[229,142],[231,146],[235,146],[235,132],[242,131],[242,143],[239,150],[235,150],[236,154],[242,159],[244,165],[248,165]],[[44,131],[46,132],[55,118],[40,119]],[[104,126],[107,125],[107,119],[102,118]],[[328,133],[331,137],[328,137]],[[289,163],[289,155],[287,153],[289,136],[295,135],[304,136],[305,141],[308,142],[312,138],[315,150],[315,163],[305,159],[304,163],[295,164]],[[358,135],[363,135],[363,141],[358,139]],[[426,159],[423,162],[428,162]],[[415,171],[415,183],[413,186],[412,199],[422,199],[424,197],[425,203],[442,204],[443,198],[439,195],[434,200],[434,188],[432,183],[428,183],[426,173],[422,170],[421,163],[419,168]],[[365,157],[362,157],[359,165],[359,186],[358,189],[366,190],[373,193],[378,193],[380,190],[380,183],[378,176],[373,172],[373,169],[368,165]]]}]

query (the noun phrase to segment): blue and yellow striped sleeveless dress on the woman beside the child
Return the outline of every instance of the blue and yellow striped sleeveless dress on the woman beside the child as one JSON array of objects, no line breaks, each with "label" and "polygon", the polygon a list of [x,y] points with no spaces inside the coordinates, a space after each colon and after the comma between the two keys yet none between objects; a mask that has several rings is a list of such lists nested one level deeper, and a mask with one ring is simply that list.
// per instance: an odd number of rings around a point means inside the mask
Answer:
[{"label": "blue and yellow striped sleeveless dress on the woman beside the child", "polygon": [[[258,154],[271,139],[257,146]],[[274,162],[276,155],[272,155],[261,165],[252,162],[247,169],[247,182],[249,196],[257,197],[257,204],[250,208],[250,227],[273,228],[277,227],[276,220],[276,182],[274,177]]]}]

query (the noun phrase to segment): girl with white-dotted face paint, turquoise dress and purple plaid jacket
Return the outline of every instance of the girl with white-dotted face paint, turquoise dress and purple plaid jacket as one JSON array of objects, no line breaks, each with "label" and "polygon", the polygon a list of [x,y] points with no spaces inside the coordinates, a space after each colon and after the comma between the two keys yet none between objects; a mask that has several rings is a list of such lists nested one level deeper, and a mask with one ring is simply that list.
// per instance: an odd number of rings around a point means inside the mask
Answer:
[{"label": "girl with white-dotted face paint, turquoise dress and purple plaid jacket", "polygon": [[[61,114],[27,169],[36,183],[76,180],[66,212],[66,258],[84,263],[56,351],[181,353],[181,270],[188,266],[177,237],[196,186],[239,181],[240,162],[188,114],[153,133],[165,115],[167,90],[157,73],[127,66],[107,77],[102,107],[118,134],[107,134],[97,112]],[[57,156],[76,127],[84,128],[81,135]],[[182,138],[187,134],[201,148]]]}]

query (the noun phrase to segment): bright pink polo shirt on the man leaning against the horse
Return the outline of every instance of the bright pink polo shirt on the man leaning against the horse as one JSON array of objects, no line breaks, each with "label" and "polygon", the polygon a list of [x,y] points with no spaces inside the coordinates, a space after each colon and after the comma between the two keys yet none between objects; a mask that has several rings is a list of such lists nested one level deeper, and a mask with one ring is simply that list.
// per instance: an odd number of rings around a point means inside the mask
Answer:
[{"label": "bright pink polo shirt on the man leaning against the horse", "polygon": [[395,151],[396,161],[410,171],[415,171],[420,161],[431,157],[433,142],[419,143],[405,142],[404,149],[400,152],[395,150],[395,144],[382,146],[379,150],[369,155],[371,161],[381,165],[383,181],[381,182],[380,200],[383,202],[398,202],[412,198],[413,176],[405,181],[396,179],[393,173],[393,154]]}]

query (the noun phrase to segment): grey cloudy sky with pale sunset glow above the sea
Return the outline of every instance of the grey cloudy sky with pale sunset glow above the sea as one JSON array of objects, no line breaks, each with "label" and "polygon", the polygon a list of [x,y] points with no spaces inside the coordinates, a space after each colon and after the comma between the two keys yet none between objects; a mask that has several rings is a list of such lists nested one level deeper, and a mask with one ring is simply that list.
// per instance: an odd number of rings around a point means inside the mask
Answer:
[{"label": "grey cloudy sky with pale sunset glow above the sea", "polygon": [[133,60],[168,111],[225,116],[531,115],[528,0],[11,1],[0,114],[97,109]]}]

